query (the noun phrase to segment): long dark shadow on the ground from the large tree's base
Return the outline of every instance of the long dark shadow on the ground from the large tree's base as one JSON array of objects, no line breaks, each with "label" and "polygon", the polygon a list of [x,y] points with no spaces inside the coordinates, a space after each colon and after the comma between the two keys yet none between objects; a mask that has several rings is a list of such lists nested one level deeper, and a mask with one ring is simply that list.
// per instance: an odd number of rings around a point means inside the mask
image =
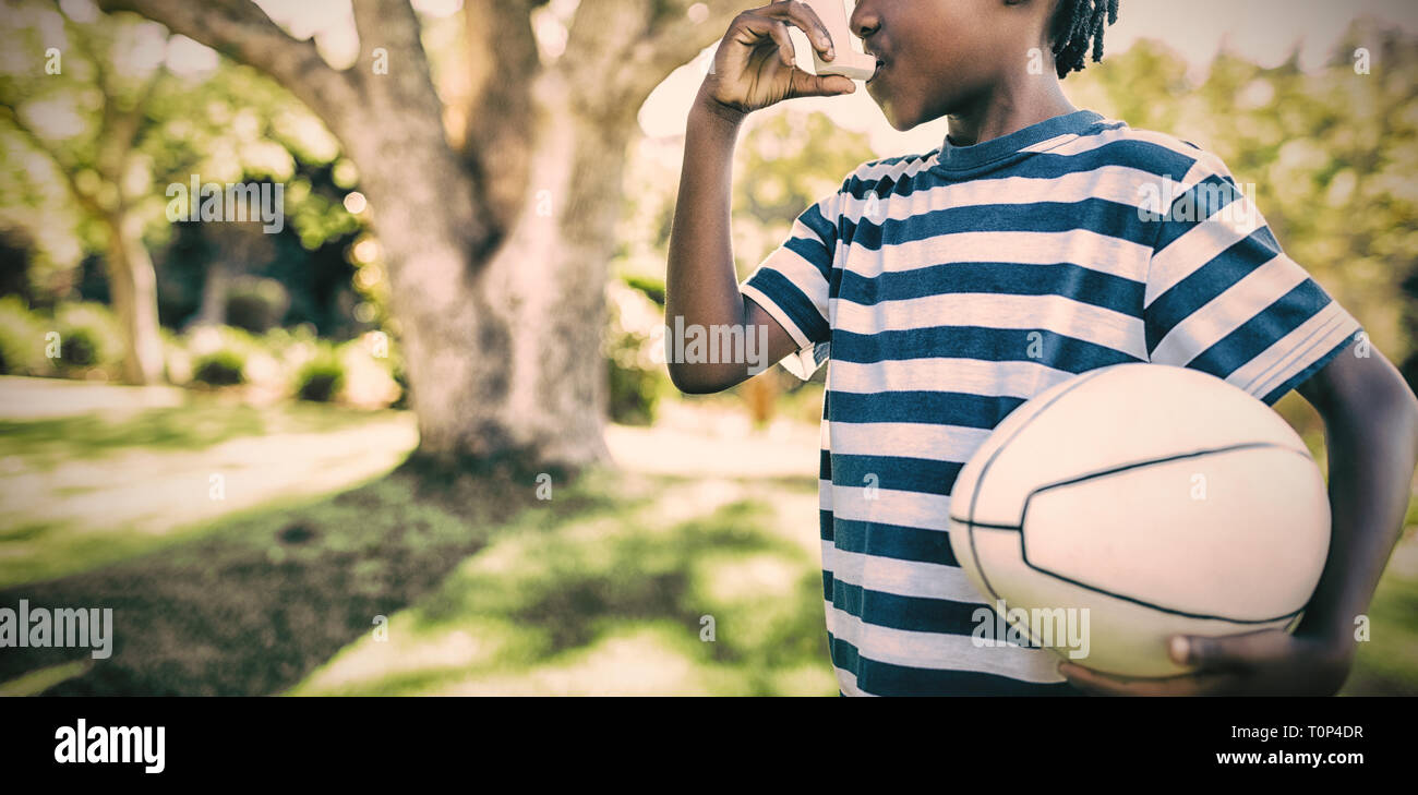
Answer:
[{"label": "long dark shadow on the ground from the large tree's base", "polygon": [[[217,523],[116,565],[0,591],[0,605],[112,608],[112,658],[45,694],[269,694],[435,588],[495,529],[603,497],[535,500],[535,475],[408,462],[363,487]],[[7,649],[0,682],[89,660],[89,649]]]}]

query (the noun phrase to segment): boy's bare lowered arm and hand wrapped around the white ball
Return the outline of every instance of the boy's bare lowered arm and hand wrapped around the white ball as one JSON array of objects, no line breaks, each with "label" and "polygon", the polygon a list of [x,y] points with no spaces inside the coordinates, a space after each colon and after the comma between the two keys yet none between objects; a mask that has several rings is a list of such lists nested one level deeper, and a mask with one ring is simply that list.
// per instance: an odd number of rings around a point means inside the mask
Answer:
[{"label": "boy's bare lowered arm and hand wrapped around the white ball", "polygon": [[1071,682],[1110,694],[1333,694],[1353,666],[1356,619],[1368,611],[1404,527],[1418,463],[1418,398],[1381,353],[1336,356],[1297,391],[1324,419],[1330,551],[1289,635],[1279,629],[1174,643],[1197,673],[1127,682],[1065,665]]}]

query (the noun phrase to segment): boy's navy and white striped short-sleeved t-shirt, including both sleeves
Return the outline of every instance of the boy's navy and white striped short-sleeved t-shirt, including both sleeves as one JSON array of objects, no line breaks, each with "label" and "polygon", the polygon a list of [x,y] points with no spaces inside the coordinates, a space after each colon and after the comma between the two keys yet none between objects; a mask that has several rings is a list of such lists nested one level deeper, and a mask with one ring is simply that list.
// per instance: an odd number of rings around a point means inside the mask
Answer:
[{"label": "boy's navy and white striped short-sleeved t-shirt, including both sleeves", "polygon": [[858,167],[742,285],[828,363],[821,536],[844,694],[1071,694],[1048,649],[978,646],[950,492],[1032,395],[1127,361],[1273,404],[1360,333],[1215,156],[1076,111]]}]

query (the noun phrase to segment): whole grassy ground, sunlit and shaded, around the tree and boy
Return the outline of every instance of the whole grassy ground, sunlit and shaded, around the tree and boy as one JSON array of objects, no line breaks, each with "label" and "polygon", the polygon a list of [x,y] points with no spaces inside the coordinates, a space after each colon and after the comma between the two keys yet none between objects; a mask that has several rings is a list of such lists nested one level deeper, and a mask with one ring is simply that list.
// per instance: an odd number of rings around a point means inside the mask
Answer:
[{"label": "whole grassy ground, sunlit and shaded, around the tree and boy", "polygon": [[[815,428],[710,425],[613,428],[620,469],[539,499],[401,466],[400,412],[6,421],[0,605],[112,607],[116,638],[6,650],[0,694],[835,694]],[[1346,692],[1418,694],[1412,530],[1370,618]]]}]

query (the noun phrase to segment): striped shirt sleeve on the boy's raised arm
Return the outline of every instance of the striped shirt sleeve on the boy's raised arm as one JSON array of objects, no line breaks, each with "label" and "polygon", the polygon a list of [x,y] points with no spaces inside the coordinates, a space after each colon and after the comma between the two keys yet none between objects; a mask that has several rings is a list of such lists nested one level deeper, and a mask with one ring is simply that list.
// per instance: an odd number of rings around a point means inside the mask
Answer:
[{"label": "striped shirt sleeve on the boy's raised arm", "polygon": [[822,198],[793,222],[788,239],[749,275],[739,291],[773,316],[798,350],[783,366],[804,381],[830,356],[828,296],[838,241],[838,197]]}]

